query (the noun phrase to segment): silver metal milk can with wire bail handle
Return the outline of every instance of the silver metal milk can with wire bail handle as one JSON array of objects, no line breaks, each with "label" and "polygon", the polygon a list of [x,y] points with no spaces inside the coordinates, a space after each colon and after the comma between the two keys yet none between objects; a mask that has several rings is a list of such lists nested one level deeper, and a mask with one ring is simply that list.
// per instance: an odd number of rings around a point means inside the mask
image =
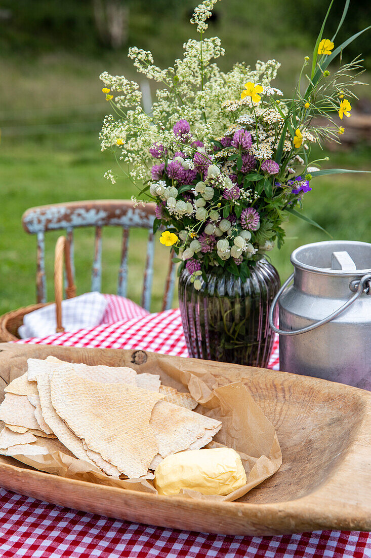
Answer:
[{"label": "silver metal milk can with wire bail handle", "polygon": [[294,273],[270,310],[280,369],[371,390],[371,244],[316,242],[290,259]]}]

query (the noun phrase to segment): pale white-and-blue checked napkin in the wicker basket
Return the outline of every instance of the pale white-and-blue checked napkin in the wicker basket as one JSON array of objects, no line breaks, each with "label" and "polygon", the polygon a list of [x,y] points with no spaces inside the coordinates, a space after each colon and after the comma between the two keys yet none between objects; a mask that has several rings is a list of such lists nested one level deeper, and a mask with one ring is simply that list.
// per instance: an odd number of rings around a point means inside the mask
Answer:
[{"label": "pale white-and-blue checked napkin in the wicker basket", "polygon": [[[100,292],[86,292],[84,295],[62,301],[62,325],[65,331],[94,328],[102,321],[108,301]],[[26,314],[23,325],[18,329],[22,339],[44,337],[55,333],[55,304],[44,306]]]}]

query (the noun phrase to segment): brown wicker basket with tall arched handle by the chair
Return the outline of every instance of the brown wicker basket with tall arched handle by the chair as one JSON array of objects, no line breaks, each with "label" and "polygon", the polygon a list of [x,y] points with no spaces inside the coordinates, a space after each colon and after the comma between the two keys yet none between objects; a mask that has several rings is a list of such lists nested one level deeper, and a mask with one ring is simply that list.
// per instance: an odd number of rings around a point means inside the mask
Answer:
[{"label": "brown wicker basket with tall arched handle by the chair", "polygon": [[[66,298],[76,296],[76,287],[72,276],[70,261],[70,246],[65,237],[59,237],[55,246],[54,258],[54,291],[56,304],[56,333],[64,331],[62,327],[62,299],[63,299],[63,259],[65,259],[67,287]],[[18,310],[7,312],[0,316],[0,341],[17,341],[19,339],[18,328],[23,324],[23,318],[34,310],[53,304],[52,302],[40,302],[31,304]]]}]

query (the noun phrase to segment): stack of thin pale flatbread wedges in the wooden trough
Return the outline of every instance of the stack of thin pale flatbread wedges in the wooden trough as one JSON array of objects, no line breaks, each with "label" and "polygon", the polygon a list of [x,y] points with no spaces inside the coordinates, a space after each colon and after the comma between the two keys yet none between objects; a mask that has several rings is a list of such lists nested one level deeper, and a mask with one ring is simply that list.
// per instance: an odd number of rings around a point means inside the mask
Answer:
[{"label": "stack of thin pale flatbread wedges in the wooden trough", "polygon": [[[203,448],[221,422],[193,411],[189,393],[127,367],[28,359],[5,388],[0,454],[61,451],[120,479],[151,479],[168,455]],[[21,458],[19,458],[21,459]]]}]

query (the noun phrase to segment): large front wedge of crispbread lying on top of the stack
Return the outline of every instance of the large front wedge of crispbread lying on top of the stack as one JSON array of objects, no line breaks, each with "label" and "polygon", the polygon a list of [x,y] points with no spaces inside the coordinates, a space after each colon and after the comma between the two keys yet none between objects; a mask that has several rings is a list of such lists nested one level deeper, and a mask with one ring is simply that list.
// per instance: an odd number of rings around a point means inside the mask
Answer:
[{"label": "large front wedge of crispbread lying on top of the stack", "polygon": [[50,390],[56,412],[89,449],[129,478],[147,474],[158,453],[149,421],[162,395],[123,383],[92,382],[61,370],[53,372]]}]

